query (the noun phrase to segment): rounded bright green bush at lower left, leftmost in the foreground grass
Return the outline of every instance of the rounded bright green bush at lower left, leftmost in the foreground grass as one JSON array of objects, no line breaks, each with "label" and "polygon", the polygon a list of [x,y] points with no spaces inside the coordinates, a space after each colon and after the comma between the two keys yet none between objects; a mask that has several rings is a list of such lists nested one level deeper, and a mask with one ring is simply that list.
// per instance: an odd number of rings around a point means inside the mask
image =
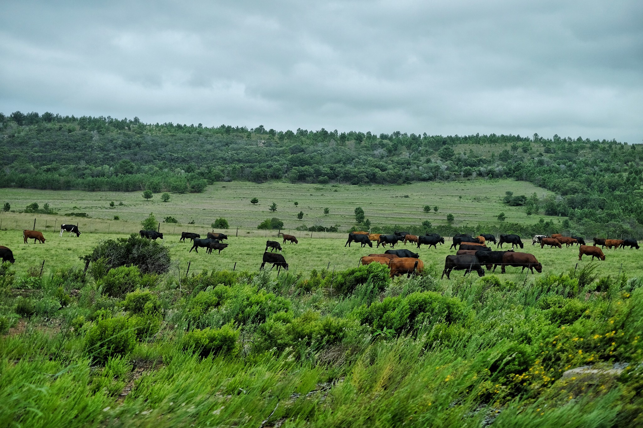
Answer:
[{"label": "rounded bright green bush at lower left, leftmost in the foreground grass", "polygon": [[87,330],[85,347],[95,361],[105,363],[113,355],[129,354],[136,346],[136,333],[128,318],[98,318]]}]

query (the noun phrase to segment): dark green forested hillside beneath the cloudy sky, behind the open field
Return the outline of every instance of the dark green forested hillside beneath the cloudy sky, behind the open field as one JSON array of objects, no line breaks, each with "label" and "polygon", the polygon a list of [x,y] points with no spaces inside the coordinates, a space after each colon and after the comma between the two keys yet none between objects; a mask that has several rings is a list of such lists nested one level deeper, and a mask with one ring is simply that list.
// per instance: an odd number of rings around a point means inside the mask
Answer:
[{"label": "dark green forested hillside beneath the cloudy sky, behind the open field", "polygon": [[367,185],[506,177],[559,195],[507,196],[534,214],[643,224],[643,148],[615,140],[277,132],[35,112],[0,114],[0,135],[0,187],[185,193],[221,180]]}]

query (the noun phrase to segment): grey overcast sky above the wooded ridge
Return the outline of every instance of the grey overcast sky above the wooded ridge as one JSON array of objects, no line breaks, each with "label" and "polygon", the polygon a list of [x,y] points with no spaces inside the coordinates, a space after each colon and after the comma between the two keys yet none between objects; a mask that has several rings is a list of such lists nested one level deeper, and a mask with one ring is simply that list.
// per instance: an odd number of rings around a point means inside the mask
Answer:
[{"label": "grey overcast sky above the wooded ridge", "polygon": [[3,1],[0,111],[643,139],[643,1]]}]

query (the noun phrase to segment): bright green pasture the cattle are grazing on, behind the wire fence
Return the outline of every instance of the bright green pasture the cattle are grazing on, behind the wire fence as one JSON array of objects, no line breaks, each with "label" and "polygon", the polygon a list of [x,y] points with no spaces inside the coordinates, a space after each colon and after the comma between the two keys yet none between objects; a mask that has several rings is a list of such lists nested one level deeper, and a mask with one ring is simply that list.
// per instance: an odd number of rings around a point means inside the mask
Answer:
[{"label": "bright green pasture the cattle are grazing on, behind the wire fence", "polygon": [[[293,273],[303,273],[308,275],[312,269],[320,270],[322,268],[329,268],[331,270],[345,270],[358,266],[359,258],[363,255],[370,253],[384,252],[381,247],[373,248],[366,246],[360,248],[359,244],[352,243],[350,247],[345,247],[346,234],[322,234],[313,232],[313,237],[310,237],[311,232],[297,232],[295,235],[298,237],[298,244],[282,244],[282,254],[286,261],[289,263],[289,268]],[[327,237],[323,237],[326,235]],[[76,237],[69,234],[63,234],[60,237],[59,233],[46,232],[46,243],[33,243],[24,244],[21,232],[17,230],[3,230],[0,231],[0,244],[8,246],[14,252],[15,270],[19,273],[26,273],[32,266],[40,266],[42,261],[45,261],[44,271],[48,272],[51,268],[58,268],[60,266],[84,266],[84,262],[80,261],[78,257],[90,253],[91,250],[98,244],[99,241],[104,239],[114,239],[116,237],[127,237],[128,234],[123,233],[91,233],[85,232]],[[319,236],[319,237],[317,237]],[[332,236],[332,237],[331,237]],[[185,243],[179,242],[180,234],[165,234],[164,239],[159,239],[158,242],[170,247],[172,261],[174,262],[173,270],[170,275],[185,275],[190,262],[190,272],[199,272],[201,270],[258,270],[262,262],[262,254],[266,248],[266,240],[282,242],[282,239],[276,237],[275,231],[262,232],[262,236],[244,236],[240,235],[235,237],[230,235],[226,243],[229,244],[228,248],[222,250],[221,254],[213,252],[206,254],[205,249],[199,249],[199,253],[194,250],[190,253],[189,239]],[[202,234],[205,237],[205,234]],[[531,241],[523,239],[525,248],[516,251],[529,252],[536,256],[539,262],[543,264],[543,272],[554,271],[560,273],[569,269],[574,269],[578,263],[578,268],[582,268],[585,264],[590,262],[591,258],[583,256],[583,260],[578,260],[578,247],[570,246],[566,248],[540,248],[538,245],[532,246]],[[419,252],[420,258],[424,261],[425,267],[437,271],[440,275],[444,267],[444,258],[448,254],[454,254],[454,250],[449,250],[450,242],[446,241],[444,245],[438,245],[437,250],[428,248],[422,245],[419,251],[417,246],[411,243],[404,245],[398,243],[395,248],[408,248],[413,252]],[[511,248],[511,244],[503,245],[505,250]],[[495,247],[495,246],[494,246]],[[500,248],[498,248],[500,250]],[[599,261],[598,271],[601,275],[618,275],[619,271],[626,273],[629,277],[642,277],[643,276],[643,253],[637,250],[619,249],[619,250],[604,250],[606,254],[605,261]],[[520,272],[520,268],[507,268],[507,274],[504,276],[514,282],[523,282],[527,276],[530,280],[533,275],[525,275]],[[496,273],[500,272],[500,268]],[[462,272],[455,272],[451,275],[453,278],[462,276]],[[537,274],[536,274],[537,275]],[[446,282],[446,277],[444,278]]]}]

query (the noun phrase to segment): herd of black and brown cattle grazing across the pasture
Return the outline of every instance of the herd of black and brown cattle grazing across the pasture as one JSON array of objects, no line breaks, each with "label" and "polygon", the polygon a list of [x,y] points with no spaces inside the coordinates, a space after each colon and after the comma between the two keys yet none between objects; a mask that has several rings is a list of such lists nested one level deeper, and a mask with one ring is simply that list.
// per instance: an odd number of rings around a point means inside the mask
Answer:
[{"label": "herd of black and brown cattle grazing across the pasture", "polygon": [[[61,237],[63,232],[69,232],[70,236],[73,234],[76,234],[77,237],[80,236],[77,225],[60,225]],[[141,230],[139,233],[141,237],[148,239],[163,239],[163,234],[156,232],[156,230]],[[280,235],[283,238],[282,244],[286,242],[291,244],[298,243],[297,238],[293,235],[279,232],[277,236]],[[41,243],[46,241],[42,232],[37,230],[23,230],[23,238],[26,244],[28,244],[29,239],[33,239],[34,243],[36,243],[36,241],[40,241]],[[185,242],[185,239],[192,241],[190,253],[192,250],[198,253],[199,248],[205,248],[206,253],[212,253],[213,250],[217,250],[219,254],[221,254],[221,251],[228,247],[228,244],[222,242],[224,239],[228,239],[228,235],[221,233],[208,232],[208,235],[202,239],[200,234],[182,232],[179,241]],[[365,255],[359,259],[359,263],[363,265],[374,262],[385,264],[390,269],[391,277],[398,275],[408,275],[408,277],[410,277],[413,273],[424,270],[424,263],[419,259],[418,253],[410,250],[394,249],[395,244],[399,242],[403,242],[405,245],[406,243],[417,244],[417,248],[420,248],[420,246],[424,244],[428,245],[429,248],[433,246],[437,249],[437,244],[444,244],[444,237],[438,234],[417,236],[409,234],[408,232],[394,232],[392,235],[351,232],[344,246],[350,247],[351,243],[359,243],[361,248],[367,245],[373,248],[373,243],[376,243],[376,248],[379,248],[380,245],[384,248],[386,245],[389,245],[390,250],[386,250],[381,254]],[[511,244],[511,249],[494,251],[491,247],[487,246],[488,243],[496,244],[496,248],[502,248],[503,244]],[[266,266],[266,263],[273,265],[271,269],[277,267],[278,270],[281,268],[288,270],[288,264],[284,256],[277,253],[277,251],[282,250],[282,244],[278,241],[266,241],[266,248],[259,270],[262,270],[264,266]],[[565,244],[566,247],[577,244],[579,246],[579,260],[583,259],[583,255],[591,255],[592,260],[594,257],[605,260],[605,255],[601,248],[599,248],[599,245],[608,250],[611,248],[616,250],[617,248],[625,248],[626,246],[629,246],[630,249],[636,248],[638,250],[639,248],[636,239],[594,238],[593,245],[590,246],[585,244],[582,237],[563,236],[561,234],[552,234],[551,236],[534,235],[534,237],[532,237],[532,246],[536,244],[540,244],[541,248],[544,248],[545,245],[548,245],[550,248],[563,248],[563,244]],[[449,278],[449,274],[453,270],[464,270],[465,276],[471,271],[476,271],[478,275],[482,277],[484,276],[483,266],[485,266],[487,270],[493,269],[493,271],[496,270],[496,267],[500,266],[502,273],[505,273],[506,266],[522,268],[521,272],[525,271],[525,268],[530,270],[531,273],[534,273],[534,269],[538,271],[538,273],[542,272],[543,266],[538,262],[536,257],[530,253],[516,252],[514,250],[516,246],[519,246],[521,249],[524,248],[520,236],[514,234],[500,235],[498,241],[496,241],[496,237],[491,234],[482,234],[476,237],[467,234],[455,235],[449,250],[456,248],[457,253],[446,256],[442,278],[444,278],[444,275]],[[268,251],[268,249],[270,250]],[[14,253],[6,246],[0,246],[0,259],[2,259],[3,262],[15,262]]]}]

